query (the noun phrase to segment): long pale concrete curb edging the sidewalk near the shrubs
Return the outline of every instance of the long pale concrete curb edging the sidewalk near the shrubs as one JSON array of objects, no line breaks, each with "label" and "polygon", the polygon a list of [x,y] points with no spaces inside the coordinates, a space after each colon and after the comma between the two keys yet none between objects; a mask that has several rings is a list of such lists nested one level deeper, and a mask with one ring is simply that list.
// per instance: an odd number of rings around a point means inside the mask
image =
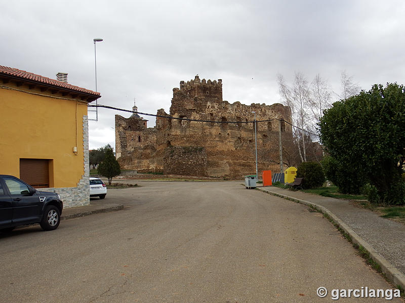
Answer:
[{"label": "long pale concrete curb edging the sidewalk near the shrubs", "polygon": [[337,227],[340,227],[341,229],[344,230],[345,233],[347,233],[351,237],[351,241],[353,244],[362,246],[370,255],[370,258],[376,262],[378,265],[381,267],[381,271],[386,275],[387,279],[391,281],[395,287],[400,286],[403,289],[405,289],[405,275],[402,274],[398,269],[396,269],[394,266],[392,266],[387,259],[382,257],[380,254],[378,254],[377,250],[375,250],[369,243],[367,243],[365,240],[363,240],[354,230],[352,230],[346,223],[344,223],[342,220],[340,220],[334,213],[332,213],[330,210],[327,208],[318,205],[313,202],[309,202],[306,200],[294,198],[285,194],[280,194],[276,193],[267,189],[262,189],[262,188],[257,188],[256,189],[281,197],[285,198],[287,200],[291,200],[300,204],[304,204],[307,206],[314,207],[318,211],[320,211],[322,214],[328,215],[332,222],[337,225]]}]

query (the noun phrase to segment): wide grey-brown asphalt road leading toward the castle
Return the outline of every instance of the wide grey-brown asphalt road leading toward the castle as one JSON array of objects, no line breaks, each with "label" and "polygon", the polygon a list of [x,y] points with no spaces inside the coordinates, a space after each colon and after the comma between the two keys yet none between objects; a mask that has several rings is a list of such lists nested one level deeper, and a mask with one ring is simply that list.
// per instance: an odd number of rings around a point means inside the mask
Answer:
[{"label": "wide grey-brown asphalt road leading toward the castle", "polygon": [[303,205],[240,182],[137,183],[108,191],[124,210],[0,234],[0,302],[326,302],[392,288]]}]

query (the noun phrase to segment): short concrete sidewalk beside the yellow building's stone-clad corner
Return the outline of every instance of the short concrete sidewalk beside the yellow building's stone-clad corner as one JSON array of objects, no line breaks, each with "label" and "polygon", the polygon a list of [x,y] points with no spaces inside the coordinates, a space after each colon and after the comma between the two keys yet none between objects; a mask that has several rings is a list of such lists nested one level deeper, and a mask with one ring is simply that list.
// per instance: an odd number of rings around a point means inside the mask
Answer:
[{"label": "short concrete sidewalk beside the yellow building's stone-clad corner", "polygon": [[91,199],[90,205],[71,207],[62,210],[61,220],[84,217],[91,214],[122,210],[124,205],[110,203],[104,199]]}]

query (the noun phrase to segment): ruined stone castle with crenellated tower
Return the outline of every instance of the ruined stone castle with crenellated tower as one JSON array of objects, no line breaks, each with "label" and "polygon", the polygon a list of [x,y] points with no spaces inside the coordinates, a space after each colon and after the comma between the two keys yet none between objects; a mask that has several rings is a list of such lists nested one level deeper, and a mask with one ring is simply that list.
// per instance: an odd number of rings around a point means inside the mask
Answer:
[{"label": "ruined stone castle with crenellated tower", "polygon": [[[206,81],[195,76],[194,80],[181,81],[180,88],[173,89],[170,115],[163,109],[157,112],[157,115],[179,119],[157,117],[154,128],[145,128],[137,115],[127,119],[115,116],[118,162],[121,169],[135,169],[138,172],[184,171],[187,175],[217,177],[255,174],[254,124],[245,123],[254,120],[252,111],[256,112],[259,121],[276,118],[291,123],[290,108],[280,104],[248,106],[224,101],[221,79]],[[280,169],[278,125],[278,120],[257,123],[259,171],[271,169],[278,172]],[[281,129],[283,136],[292,135],[290,124],[282,122]],[[204,150],[206,156],[201,153],[186,155],[185,149],[174,147],[194,147],[194,151]],[[175,150],[178,156],[168,157],[168,150],[173,153]],[[184,157],[180,157],[182,153]],[[195,162],[190,155],[194,155]],[[206,160],[202,160],[204,157]],[[185,169],[185,163],[189,163],[188,169]],[[204,169],[201,169],[201,165]]]}]

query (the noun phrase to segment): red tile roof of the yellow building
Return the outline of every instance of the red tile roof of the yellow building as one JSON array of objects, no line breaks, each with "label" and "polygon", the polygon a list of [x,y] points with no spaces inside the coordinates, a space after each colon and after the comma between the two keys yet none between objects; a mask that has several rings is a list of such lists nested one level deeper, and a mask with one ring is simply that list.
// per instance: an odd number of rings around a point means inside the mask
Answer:
[{"label": "red tile roof of the yellow building", "polygon": [[38,84],[43,83],[43,84],[47,84],[47,85],[51,85],[51,86],[57,86],[57,87],[61,87],[61,88],[69,89],[69,90],[74,90],[77,92],[84,92],[84,93],[92,94],[92,95],[95,95],[98,97],[100,96],[99,92],[96,92],[96,91],[93,91],[90,89],[78,87],[78,86],[71,85],[66,82],[61,82],[61,81],[58,81],[55,79],[43,77],[40,75],[35,75],[33,73],[29,73],[26,71],[22,71],[22,70],[7,67],[7,66],[0,65],[0,75],[8,75],[13,78],[20,78],[21,80],[29,80],[30,82],[31,81],[38,82]]}]

